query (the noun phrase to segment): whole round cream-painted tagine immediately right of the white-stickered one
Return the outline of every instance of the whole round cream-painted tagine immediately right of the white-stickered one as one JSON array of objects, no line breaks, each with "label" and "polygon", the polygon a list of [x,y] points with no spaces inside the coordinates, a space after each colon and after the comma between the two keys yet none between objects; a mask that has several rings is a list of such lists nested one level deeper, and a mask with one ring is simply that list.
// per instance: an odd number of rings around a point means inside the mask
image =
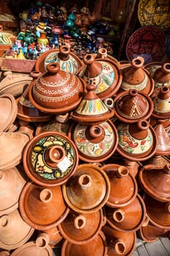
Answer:
[{"label": "whole round cream-painted tagine immediately right of the white-stickered one", "polygon": [[102,162],[109,159],[118,143],[117,130],[110,120],[94,125],[73,123],[68,136],[74,141],[80,159],[85,162]]}]

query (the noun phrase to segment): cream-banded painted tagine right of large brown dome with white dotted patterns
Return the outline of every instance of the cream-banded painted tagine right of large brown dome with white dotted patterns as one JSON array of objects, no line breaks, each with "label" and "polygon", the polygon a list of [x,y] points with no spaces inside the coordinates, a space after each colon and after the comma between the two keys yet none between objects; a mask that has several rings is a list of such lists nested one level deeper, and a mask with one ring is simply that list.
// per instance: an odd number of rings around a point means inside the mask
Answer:
[{"label": "cream-banded painted tagine right of large brown dome with white dotted patterns", "polygon": [[109,59],[94,59],[93,54],[86,54],[83,61],[77,75],[95,86],[95,93],[102,100],[115,96],[122,83],[118,64]]}]

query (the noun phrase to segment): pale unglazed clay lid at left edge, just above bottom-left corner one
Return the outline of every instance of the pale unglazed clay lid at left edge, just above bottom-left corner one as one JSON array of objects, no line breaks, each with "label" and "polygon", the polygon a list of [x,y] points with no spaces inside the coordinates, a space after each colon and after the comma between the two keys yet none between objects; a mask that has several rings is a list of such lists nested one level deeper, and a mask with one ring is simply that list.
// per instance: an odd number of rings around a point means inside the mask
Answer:
[{"label": "pale unglazed clay lid at left edge, just above bottom-left corner one", "polygon": [[0,246],[3,249],[22,246],[33,233],[34,228],[23,221],[18,209],[0,217]]}]

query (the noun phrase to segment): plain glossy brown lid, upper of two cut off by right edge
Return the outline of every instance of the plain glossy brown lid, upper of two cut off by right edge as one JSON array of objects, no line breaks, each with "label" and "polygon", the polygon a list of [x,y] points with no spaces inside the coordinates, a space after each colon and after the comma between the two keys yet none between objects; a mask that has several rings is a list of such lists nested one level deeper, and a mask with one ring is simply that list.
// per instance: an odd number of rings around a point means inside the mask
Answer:
[{"label": "plain glossy brown lid, upper of two cut off by right edge", "polygon": [[170,202],[170,164],[164,167],[144,165],[139,170],[139,182],[144,191],[161,202]]}]

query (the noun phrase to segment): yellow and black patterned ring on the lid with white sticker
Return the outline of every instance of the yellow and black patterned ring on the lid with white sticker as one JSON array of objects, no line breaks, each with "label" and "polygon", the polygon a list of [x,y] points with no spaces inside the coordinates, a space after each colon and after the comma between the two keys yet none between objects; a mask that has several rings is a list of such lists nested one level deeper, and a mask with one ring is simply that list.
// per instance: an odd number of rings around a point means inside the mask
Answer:
[{"label": "yellow and black patterned ring on the lid with white sticker", "polygon": [[[66,156],[56,164],[56,167],[50,167],[45,162],[45,151],[49,146],[61,146]],[[46,136],[39,140],[31,150],[31,165],[34,172],[46,180],[55,180],[63,178],[72,170],[74,159],[76,159],[74,149],[67,140],[59,136]]]}]

